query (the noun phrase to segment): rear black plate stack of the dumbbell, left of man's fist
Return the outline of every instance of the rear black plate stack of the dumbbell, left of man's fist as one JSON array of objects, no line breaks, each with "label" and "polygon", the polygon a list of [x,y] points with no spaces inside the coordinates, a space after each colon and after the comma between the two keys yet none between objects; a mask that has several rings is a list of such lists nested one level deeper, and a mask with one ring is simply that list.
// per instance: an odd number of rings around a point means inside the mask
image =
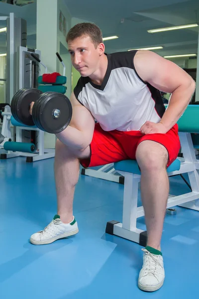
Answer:
[{"label": "rear black plate stack of the dumbbell, left of man's fist", "polygon": [[29,113],[31,102],[38,100],[42,92],[36,88],[24,88],[14,96],[13,117],[27,126],[34,126],[32,116]]}]

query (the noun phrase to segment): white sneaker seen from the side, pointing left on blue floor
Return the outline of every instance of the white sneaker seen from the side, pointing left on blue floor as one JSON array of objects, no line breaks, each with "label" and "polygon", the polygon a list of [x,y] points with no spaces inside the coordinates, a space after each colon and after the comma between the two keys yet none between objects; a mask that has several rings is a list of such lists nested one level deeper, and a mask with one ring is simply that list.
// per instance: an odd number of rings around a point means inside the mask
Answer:
[{"label": "white sneaker seen from the side, pointing left on blue floor", "polygon": [[55,215],[43,231],[37,232],[30,237],[30,242],[34,245],[49,244],[58,239],[75,235],[78,232],[79,229],[75,217],[73,217],[71,223],[65,224],[60,220],[59,215]]}]

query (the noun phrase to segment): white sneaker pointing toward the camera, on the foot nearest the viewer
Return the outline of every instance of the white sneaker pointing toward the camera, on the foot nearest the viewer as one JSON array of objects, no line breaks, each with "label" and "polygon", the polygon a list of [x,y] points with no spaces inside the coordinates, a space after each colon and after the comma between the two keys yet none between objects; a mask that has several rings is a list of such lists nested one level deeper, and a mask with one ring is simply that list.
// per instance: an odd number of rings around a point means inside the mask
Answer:
[{"label": "white sneaker pointing toward the camera, on the foot nearest the viewer", "polygon": [[144,251],[143,266],[139,274],[138,287],[143,291],[154,292],[164,283],[165,271],[163,257]]}]

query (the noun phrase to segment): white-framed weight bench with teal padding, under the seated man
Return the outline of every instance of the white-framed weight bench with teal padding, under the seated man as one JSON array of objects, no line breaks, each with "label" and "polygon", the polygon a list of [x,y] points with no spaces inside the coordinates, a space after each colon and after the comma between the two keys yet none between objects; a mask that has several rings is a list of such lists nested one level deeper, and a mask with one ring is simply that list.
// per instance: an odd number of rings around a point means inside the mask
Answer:
[{"label": "white-framed weight bench with teal padding, under the seated man", "polygon": [[[166,106],[167,108],[167,106]],[[182,206],[199,211],[199,160],[196,158],[191,133],[199,133],[199,106],[189,105],[178,121],[183,157],[178,157],[168,168],[168,176],[188,173],[192,191],[179,196],[169,196],[167,208]],[[144,216],[143,206],[137,207],[138,183],[141,173],[136,160],[114,163],[114,169],[124,176],[122,223],[109,221],[105,232],[141,246],[147,244],[147,231],[136,227],[137,218]]]}]

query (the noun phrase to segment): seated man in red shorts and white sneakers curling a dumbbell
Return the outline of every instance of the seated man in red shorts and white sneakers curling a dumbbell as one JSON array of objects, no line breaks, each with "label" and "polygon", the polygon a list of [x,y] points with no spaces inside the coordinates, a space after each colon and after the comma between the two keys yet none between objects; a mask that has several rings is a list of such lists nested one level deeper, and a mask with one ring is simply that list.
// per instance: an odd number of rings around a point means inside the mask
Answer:
[{"label": "seated man in red shorts and white sneakers curling a dumbbell", "polygon": [[[57,134],[58,210],[30,242],[49,244],[78,233],[73,196],[79,163],[89,167],[136,159],[148,233],[138,286],[156,291],[165,278],[160,243],[169,193],[166,169],[178,155],[176,123],[190,102],[195,82],[176,64],[150,51],[105,54],[100,28],[92,23],[75,25],[67,43],[81,78],[71,95],[70,126]],[[172,93],[166,112],[159,90]]]}]

